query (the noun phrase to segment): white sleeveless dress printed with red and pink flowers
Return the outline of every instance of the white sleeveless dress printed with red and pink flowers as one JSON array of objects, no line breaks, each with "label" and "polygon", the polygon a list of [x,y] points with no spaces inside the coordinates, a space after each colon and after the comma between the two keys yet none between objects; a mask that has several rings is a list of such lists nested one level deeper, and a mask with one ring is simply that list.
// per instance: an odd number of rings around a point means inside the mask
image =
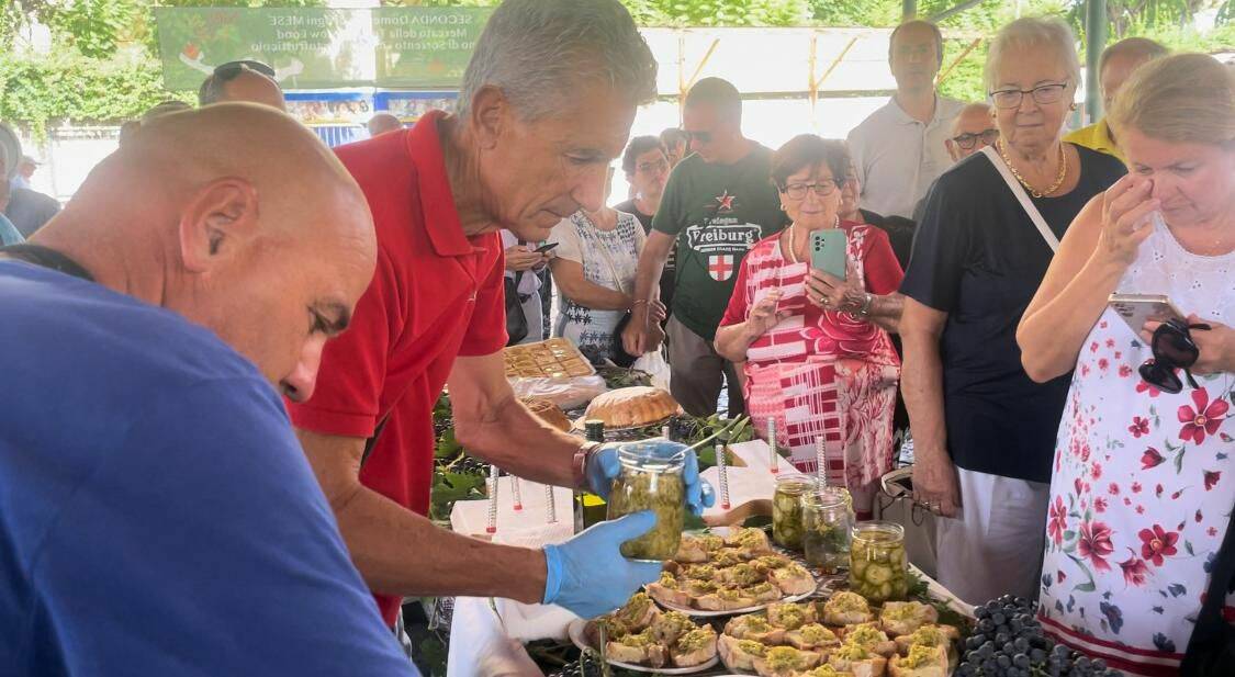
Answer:
[{"label": "white sleeveless dress printed with red and pink flowers", "polygon": [[[1153,227],[1119,292],[1166,294],[1184,314],[1235,325],[1235,252],[1192,254]],[[1235,374],[1198,376],[1199,388],[1172,395],[1140,378],[1150,357],[1110,309],[1081,351],[1055,452],[1040,615],[1060,641],[1156,676],[1178,670],[1235,505]]]}]

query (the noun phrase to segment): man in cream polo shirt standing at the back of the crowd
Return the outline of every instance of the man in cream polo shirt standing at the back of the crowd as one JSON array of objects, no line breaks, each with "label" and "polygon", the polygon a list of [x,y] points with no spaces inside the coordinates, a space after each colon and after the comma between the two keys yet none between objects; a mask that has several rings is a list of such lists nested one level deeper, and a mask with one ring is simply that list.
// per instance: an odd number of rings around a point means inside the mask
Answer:
[{"label": "man in cream polo shirt standing at the back of the crowd", "polygon": [[944,141],[965,105],[935,91],[944,64],[944,36],[926,21],[892,32],[888,64],[897,93],[848,135],[862,184],[862,204],[884,216],[909,216],[926,189],[948,167]]}]

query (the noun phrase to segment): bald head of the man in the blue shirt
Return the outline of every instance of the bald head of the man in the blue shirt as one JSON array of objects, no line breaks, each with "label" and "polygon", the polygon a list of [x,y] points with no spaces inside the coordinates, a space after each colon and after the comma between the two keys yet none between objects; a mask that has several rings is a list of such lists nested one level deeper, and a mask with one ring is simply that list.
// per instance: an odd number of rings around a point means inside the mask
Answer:
[{"label": "bald head of the man in the blue shirt", "polygon": [[35,241],[214,330],[294,399],[311,394],[377,256],[368,204],[333,153],[252,104],[143,124]]}]

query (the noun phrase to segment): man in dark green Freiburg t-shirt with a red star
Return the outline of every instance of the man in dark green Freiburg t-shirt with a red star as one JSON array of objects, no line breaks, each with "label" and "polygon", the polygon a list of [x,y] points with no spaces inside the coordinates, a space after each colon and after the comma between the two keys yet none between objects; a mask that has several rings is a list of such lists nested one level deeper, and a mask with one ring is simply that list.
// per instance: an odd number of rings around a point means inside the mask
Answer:
[{"label": "man in dark green Freiburg t-shirt with a red star", "polygon": [[694,154],[669,174],[638,258],[635,306],[622,334],[631,355],[656,347],[647,331],[647,305],[677,242],[676,292],[666,326],[669,387],[692,416],[716,413],[726,376],[730,414],[745,409],[737,369],[711,342],[746,252],[788,224],[771,180],[772,151],[742,136],[741,126],[742,99],[732,84],[704,78],[690,88],[683,127]]}]

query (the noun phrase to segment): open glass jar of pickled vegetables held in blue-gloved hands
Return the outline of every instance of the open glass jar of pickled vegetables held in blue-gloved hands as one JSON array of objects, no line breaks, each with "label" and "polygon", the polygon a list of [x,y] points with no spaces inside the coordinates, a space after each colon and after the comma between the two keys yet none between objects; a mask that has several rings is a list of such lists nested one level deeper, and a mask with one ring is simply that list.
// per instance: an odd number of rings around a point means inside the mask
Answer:
[{"label": "open glass jar of pickled vegetables held in blue-gloved hands", "polygon": [[618,450],[621,473],[609,493],[609,519],[652,510],[656,526],[621,545],[621,553],[634,560],[672,560],[685,523],[685,445],[667,440],[630,442]]}]

